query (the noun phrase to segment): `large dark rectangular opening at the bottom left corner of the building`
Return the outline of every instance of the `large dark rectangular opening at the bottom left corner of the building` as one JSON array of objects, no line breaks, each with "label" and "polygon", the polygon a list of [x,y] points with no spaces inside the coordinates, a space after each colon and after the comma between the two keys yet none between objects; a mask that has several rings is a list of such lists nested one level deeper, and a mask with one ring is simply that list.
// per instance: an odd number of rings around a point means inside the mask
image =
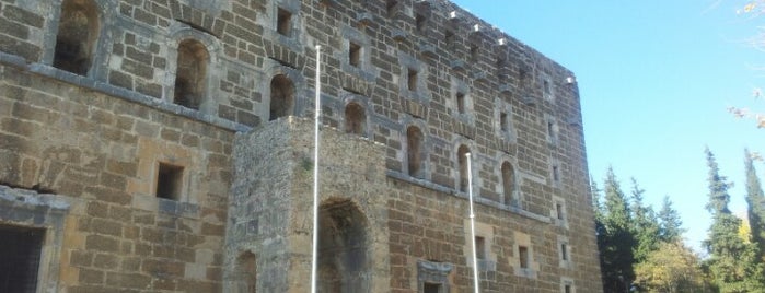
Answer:
[{"label": "large dark rectangular opening at the bottom left corner of the building", "polygon": [[0,292],[37,292],[45,230],[0,225]]}]

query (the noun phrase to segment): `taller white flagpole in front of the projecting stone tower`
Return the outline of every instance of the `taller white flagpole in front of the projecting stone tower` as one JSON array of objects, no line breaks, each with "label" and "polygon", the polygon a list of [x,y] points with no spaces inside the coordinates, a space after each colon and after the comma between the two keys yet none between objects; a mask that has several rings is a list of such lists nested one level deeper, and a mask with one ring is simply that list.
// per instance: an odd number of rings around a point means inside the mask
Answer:
[{"label": "taller white flagpole in front of the projecting stone tower", "polygon": [[318,266],[318,120],[321,119],[321,65],[322,46],[316,45],[316,117],[314,119],[313,148],[313,257],[311,259],[311,293],[316,293],[316,267]]}]

